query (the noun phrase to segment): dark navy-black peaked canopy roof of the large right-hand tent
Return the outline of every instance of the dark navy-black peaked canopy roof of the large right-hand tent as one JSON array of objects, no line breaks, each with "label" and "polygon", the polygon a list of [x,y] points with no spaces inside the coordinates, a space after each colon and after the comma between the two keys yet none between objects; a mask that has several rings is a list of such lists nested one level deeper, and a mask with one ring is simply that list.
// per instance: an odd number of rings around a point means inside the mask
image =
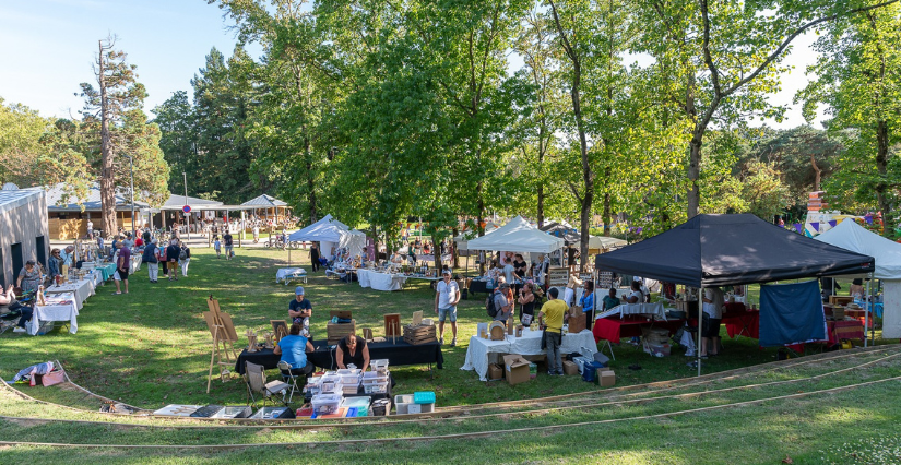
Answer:
[{"label": "dark navy-black peaked canopy roof of the large right-hand tent", "polygon": [[750,214],[698,215],[668,231],[595,258],[604,271],[693,287],[873,271],[873,257],[840,249]]}]

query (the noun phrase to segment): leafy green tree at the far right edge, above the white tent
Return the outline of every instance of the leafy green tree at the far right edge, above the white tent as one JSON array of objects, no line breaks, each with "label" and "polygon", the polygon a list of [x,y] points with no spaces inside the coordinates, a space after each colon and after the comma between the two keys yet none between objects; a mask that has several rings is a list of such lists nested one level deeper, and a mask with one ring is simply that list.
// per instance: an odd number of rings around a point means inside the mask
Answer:
[{"label": "leafy green tree at the far right edge, above the white tent", "polygon": [[901,5],[892,2],[841,20],[826,25],[815,44],[821,55],[807,72],[817,79],[796,99],[805,103],[808,120],[826,105],[832,117],[826,127],[847,148],[842,169],[828,182],[830,193],[843,206],[853,201],[877,206],[891,236],[901,188],[901,163],[892,150],[901,142]]}]

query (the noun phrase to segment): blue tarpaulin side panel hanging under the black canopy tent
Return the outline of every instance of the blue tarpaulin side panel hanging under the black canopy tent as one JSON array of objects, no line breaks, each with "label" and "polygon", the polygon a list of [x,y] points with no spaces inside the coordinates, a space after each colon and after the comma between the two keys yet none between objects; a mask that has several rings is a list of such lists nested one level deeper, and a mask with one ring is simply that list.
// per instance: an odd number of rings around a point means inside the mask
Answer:
[{"label": "blue tarpaulin side panel hanging under the black canopy tent", "polygon": [[826,339],[819,283],[760,286],[760,346]]}]

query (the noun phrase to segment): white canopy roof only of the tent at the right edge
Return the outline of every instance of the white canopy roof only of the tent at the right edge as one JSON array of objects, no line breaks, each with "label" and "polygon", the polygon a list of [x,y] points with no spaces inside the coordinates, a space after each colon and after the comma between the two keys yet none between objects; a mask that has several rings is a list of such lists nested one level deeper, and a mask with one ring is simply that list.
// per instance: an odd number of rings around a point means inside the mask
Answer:
[{"label": "white canopy roof only of the tent at the right edge", "polygon": [[876,258],[874,276],[879,279],[901,279],[901,243],[892,242],[876,233],[868,231],[851,219],[839,223],[832,229],[817,236],[816,240],[853,252]]}]

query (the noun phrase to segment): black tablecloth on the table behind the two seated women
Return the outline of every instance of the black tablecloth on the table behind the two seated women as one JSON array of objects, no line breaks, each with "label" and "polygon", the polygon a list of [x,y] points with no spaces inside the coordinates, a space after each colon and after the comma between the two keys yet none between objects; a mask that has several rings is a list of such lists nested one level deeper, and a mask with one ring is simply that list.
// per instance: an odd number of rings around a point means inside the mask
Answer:
[{"label": "black tablecloth on the table behind the two seated women", "polygon": [[[324,341],[313,342],[312,345],[316,350],[312,354],[307,354],[307,360],[327,370],[337,368],[337,365],[334,362],[334,349],[330,349]],[[438,342],[414,346],[398,339],[396,344],[391,344],[391,341],[386,341],[383,343],[367,343],[367,345],[369,346],[370,359],[378,360],[387,358],[389,366],[435,363],[439,369],[444,368],[444,356],[441,354],[441,345],[439,345]],[[246,361],[262,365],[266,370],[278,368],[278,360],[281,358],[282,357],[275,355],[272,349],[260,349],[252,354],[244,349],[241,350],[241,355],[238,356],[238,361],[235,363],[235,372],[244,374],[244,363]]]}]

